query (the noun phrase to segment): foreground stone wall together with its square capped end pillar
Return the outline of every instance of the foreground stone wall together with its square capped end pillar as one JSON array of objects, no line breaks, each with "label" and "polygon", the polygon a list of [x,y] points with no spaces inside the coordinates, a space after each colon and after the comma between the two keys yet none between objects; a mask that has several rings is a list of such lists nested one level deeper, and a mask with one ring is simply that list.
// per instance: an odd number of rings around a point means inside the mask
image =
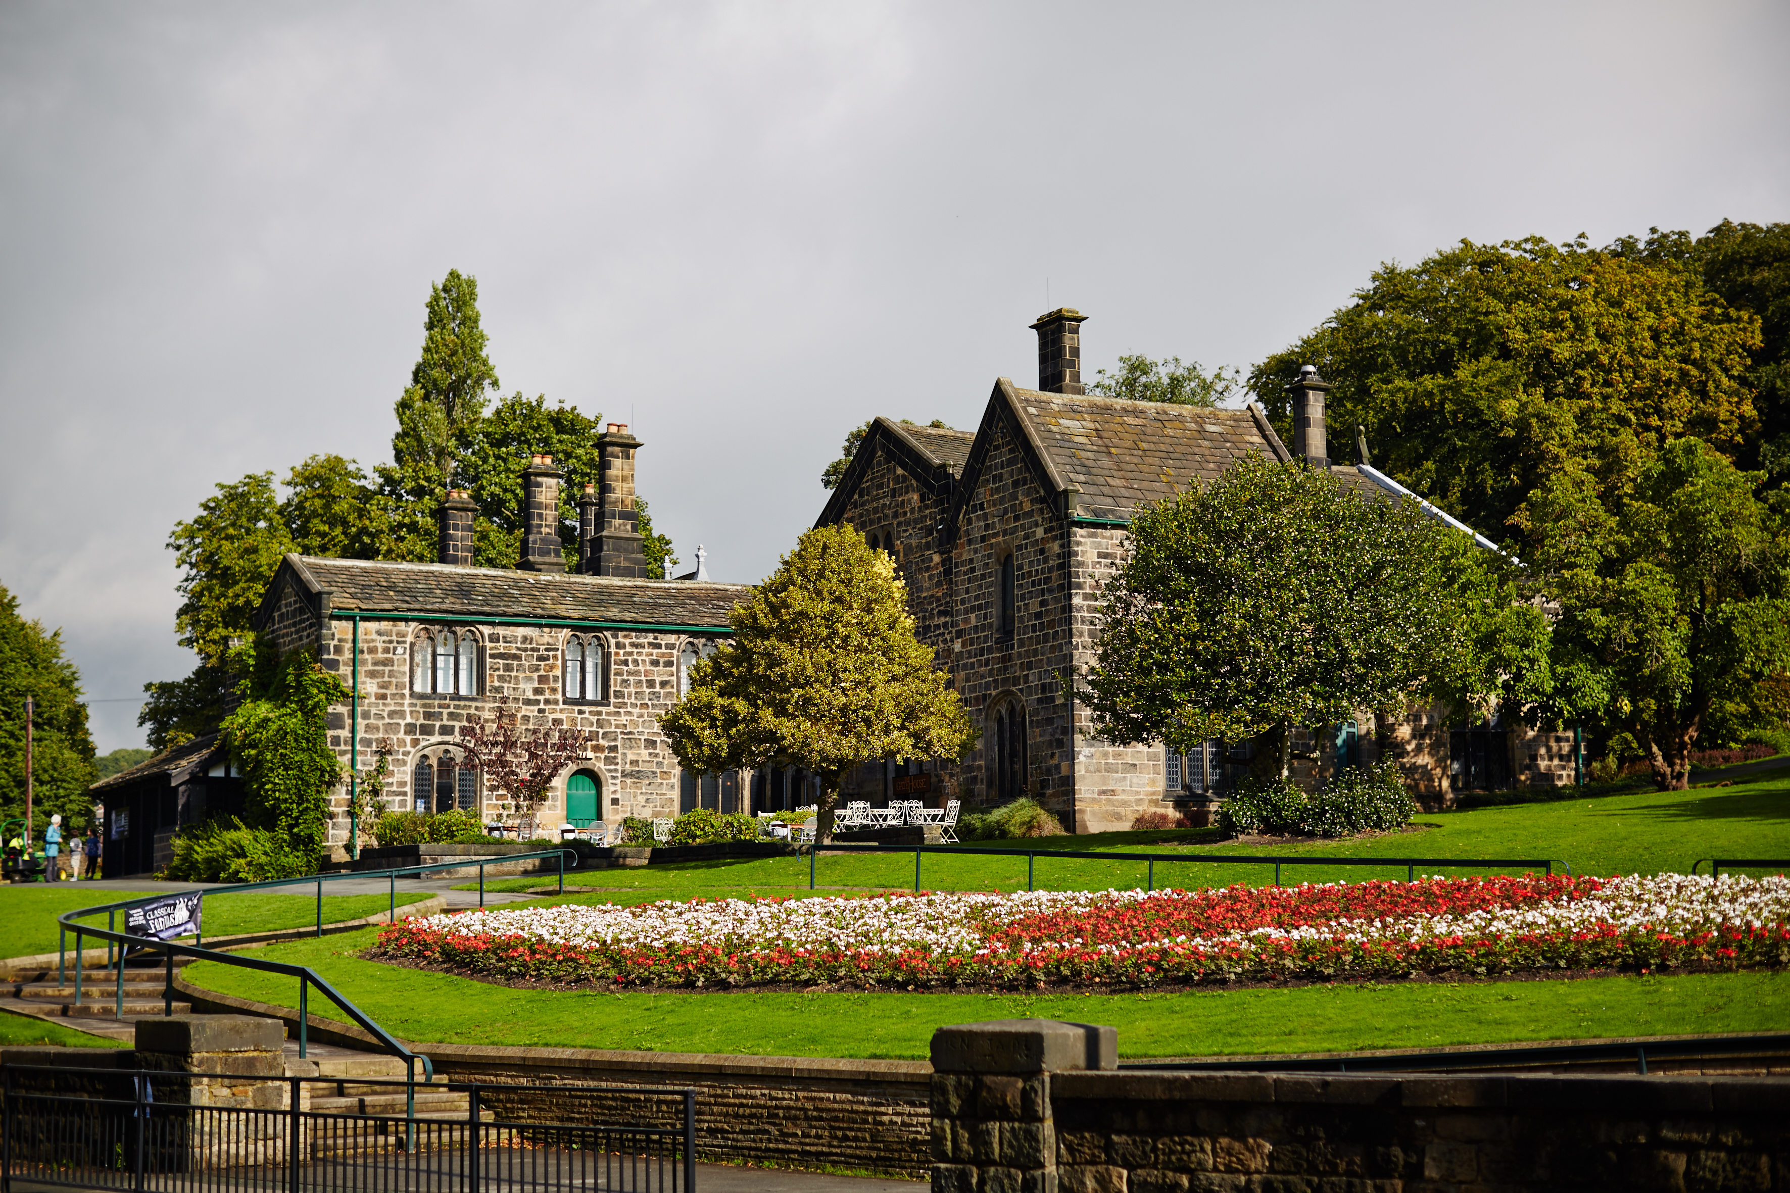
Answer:
[{"label": "foreground stone wall together with its square capped end pillar", "polygon": [[1790,1186],[1790,1079],[1113,1070],[1078,1023],[933,1037],[933,1189]]}]

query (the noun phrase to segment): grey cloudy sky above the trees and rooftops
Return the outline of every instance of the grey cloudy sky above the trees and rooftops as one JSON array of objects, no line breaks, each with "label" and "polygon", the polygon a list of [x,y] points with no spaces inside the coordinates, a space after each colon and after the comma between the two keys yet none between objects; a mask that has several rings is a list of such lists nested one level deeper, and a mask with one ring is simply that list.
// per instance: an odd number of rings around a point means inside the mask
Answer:
[{"label": "grey cloudy sky above the trees and rooftops", "polygon": [[[1459,238],[1790,218],[1785,4],[0,5],[0,583],[184,674],[218,481],[388,456],[422,302],[630,420],[759,580],[874,413],[974,427],[1078,306],[1248,368]],[[1047,290],[1049,288],[1049,290]],[[141,744],[95,705],[102,751]]]}]

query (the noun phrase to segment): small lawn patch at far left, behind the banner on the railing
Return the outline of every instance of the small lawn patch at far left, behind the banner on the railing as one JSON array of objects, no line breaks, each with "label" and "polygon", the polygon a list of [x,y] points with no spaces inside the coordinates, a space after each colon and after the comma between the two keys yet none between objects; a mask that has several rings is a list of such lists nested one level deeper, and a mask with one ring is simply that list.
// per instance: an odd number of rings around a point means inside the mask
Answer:
[{"label": "small lawn patch at far left, behind the banner on the railing", "polygon": [[[170,889],[179,889],[170,884]],[[294,887],[295,894],[277,894],[267,891],[249,891],[243,894],[208,894],[204,898],[206,935],[233,935],[240,932],[277,932],[279,928],[299,928],[317,923],[317,898],[306,887]],[[143,893],[149,894],[149,893]],[[32,957],[54,953],[57,950],[55,918],[81,907],[100,903],[120,903],[136,898],[131,891],[104,891],[79,884],[55,885],[5,885],[0,887],[0,953],[7,957]],[[397,903],[408,905],[430,898],[426,893],[412,891],[399,894]],[[324,923],[360,919],[388,907],[385,894],[326,894]],[[97,928],[106,926],[106,916],[84,919]],[[124,930],[124,916],[118,918]],[[75,946],[73,935],[68,948]]]}]

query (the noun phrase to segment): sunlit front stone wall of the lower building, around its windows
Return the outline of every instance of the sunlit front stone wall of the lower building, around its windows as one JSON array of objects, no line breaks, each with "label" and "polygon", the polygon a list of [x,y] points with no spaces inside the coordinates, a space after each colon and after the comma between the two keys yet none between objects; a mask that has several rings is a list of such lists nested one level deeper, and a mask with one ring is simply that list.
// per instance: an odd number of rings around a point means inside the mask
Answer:
[{"label": "sunlit front stone wall of the lower building, around its windows", "polygon": [[[677,656],[687,635],[671,631],[605,631],[610,660],[610,699],[562,699],[560,649],[566,630],[548,626],[471,626],[483,640],[483,696],[433,696],[410,690],[410,644],[426,622],[363,621],[360,630],[360,766],[372,766],[374,746],[392,739],[392,778],[387,807],[410,807],[410,774],[417,755],[455,746],[473,714],[494,717],[508,698],[524,724],[571,724],[587,730],[591,755],[567,767],[539,812],[539,823],[557,825],[566,808],[566,776],[591,769],[601,776],[601,814],[677,816],[678,762],[659,730],[659,714],[677,699]],[[456,624],[456,630],[469,626]],[[329,622],[322,664],[351,681],[353,624]],[[329,746],[349,764],[347,706],[331,715]],[[483,817],[498,816],[494,796],[482,789]],[[347,841],[347,787],[335,792],[331,841]]]}]

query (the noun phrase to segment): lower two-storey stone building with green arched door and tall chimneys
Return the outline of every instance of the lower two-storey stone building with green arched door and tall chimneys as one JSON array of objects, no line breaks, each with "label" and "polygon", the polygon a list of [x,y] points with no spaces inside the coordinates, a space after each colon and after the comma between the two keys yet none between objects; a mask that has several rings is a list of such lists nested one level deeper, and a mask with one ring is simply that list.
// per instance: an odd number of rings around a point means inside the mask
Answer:
[{"label": "lower two-storey stone building with green arched door and tall chimneys", "polygon": [[[460,726],[514,710],[524,724],[569,724],[589,737],[539,825],[616,823],[680,808],[743,808],[739,776],[686,774],[659,714],[687,669],[727,639],[729,610],[750,590],[648,574],[634,512],[641,442],[610,424],[601,487],[578,501],[578,567],[558,538],[558,470],[535,456],[524,474],[526,528],[516,569],[473,567],[473,503],[449,492],[439,563],[288,554],[254,617],[281,651],[310,647],[356,692],[329,714],[329,744],[365,771],[392,742],[385,805],[462,808],[514,823],[467,766]],[[354,726],[353,730],[349,726]],[[331,841],[347,841],[349,791],[337,791]]]}]

